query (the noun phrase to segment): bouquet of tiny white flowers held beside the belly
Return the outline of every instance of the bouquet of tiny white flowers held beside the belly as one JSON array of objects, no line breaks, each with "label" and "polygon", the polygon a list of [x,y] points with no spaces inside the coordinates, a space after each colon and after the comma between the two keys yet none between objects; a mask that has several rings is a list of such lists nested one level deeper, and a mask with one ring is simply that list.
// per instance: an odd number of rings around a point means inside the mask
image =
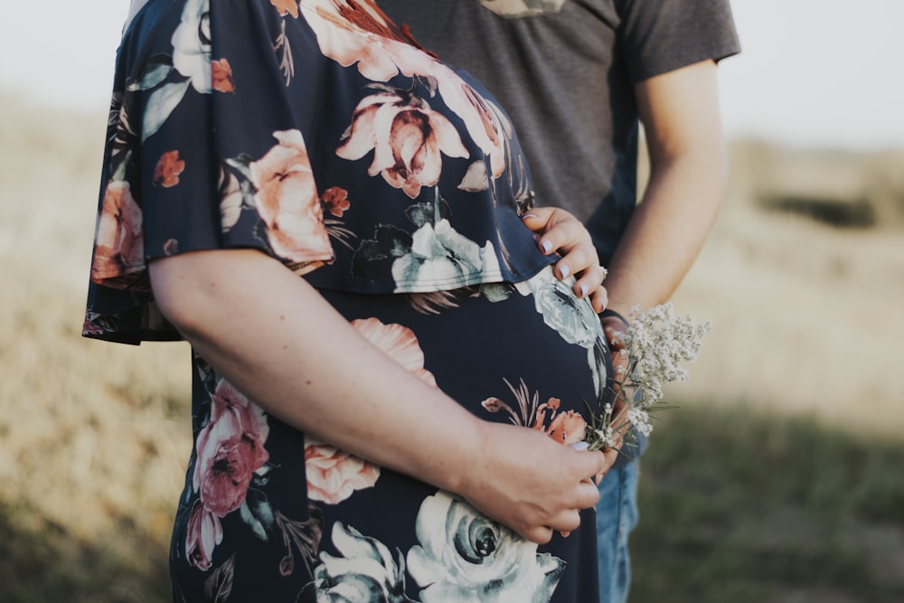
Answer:
[{"label": "bouquet of tiny white flowers held beside the belly", "polygon": [[709,322],[697,325],[689,316],[675,316],[671,302],[645,311],[635,306],[628,316],[626,331],[612,342],[617,349],[610,386],[615,403],[605,404],[601,413],[590,411],[584,438],[589,450],[615,448],[619,442],[630,446],[635,433],[649,435],[651,413],[675,408],[663,402],[664,383],[687,381],[679,363],[697,359],[702,337],[711,330]]}]

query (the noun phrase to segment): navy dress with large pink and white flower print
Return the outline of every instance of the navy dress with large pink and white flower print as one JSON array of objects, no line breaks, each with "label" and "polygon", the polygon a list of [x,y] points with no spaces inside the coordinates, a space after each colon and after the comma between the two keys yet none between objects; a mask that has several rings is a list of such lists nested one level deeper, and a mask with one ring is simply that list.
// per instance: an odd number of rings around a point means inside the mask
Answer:
[{"label": "navy dress with large pink and white flower print", "polygon": [[[476,416],[567,445],[611,364],[532,203],[493,99],[370,0],[150,0],[118,49],[84,334],[179,339],[148,262],[256,249]],[[306,438],[197,353],[192,402],[175,601],[597,600],[593,510],[524,541]]]}]

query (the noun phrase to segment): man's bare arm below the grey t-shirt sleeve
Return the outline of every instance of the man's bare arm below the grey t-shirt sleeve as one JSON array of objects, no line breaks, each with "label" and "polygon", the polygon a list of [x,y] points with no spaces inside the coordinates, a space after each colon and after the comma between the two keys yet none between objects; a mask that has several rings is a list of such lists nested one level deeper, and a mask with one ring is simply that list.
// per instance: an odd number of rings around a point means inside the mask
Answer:
[{"label": "man's bare arm below the grey t-shirt sleeve", "polygon": [[650,181],[613,255],[608,307],[626,316],[672,296],[702,249],[725,193],[714,61],[636,85],[650,154]]}]

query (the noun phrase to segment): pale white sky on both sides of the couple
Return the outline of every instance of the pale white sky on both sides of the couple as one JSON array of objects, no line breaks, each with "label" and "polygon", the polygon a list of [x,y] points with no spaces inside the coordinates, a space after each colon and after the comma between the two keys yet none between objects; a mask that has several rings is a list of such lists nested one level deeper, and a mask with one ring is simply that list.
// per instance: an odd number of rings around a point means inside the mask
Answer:
[{"label": "pale white sky on both sides of the couple", "polygon": [[[128,0],[6,0],[0,93],[105,110],[127,6]],[[743,52],[719,70],[730,137],[904,148],[904,0],[733,0],[731,6]]]}]

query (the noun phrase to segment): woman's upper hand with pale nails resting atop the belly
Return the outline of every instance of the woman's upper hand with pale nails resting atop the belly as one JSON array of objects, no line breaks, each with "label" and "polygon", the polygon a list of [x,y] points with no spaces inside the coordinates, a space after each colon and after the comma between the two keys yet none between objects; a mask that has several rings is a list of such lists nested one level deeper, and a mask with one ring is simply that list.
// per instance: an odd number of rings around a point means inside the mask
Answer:
[{"label": "woman's upper hand with pale nails resting atop the belly", "polygon": [[575,295],[589,297],[593,309],[602,312],[608,303],[606,287],[603,287],[606,271],[599,265],[597,249],[584,225],[569,212],[556,207],[535,207],[525,213],[522,220],[534,231],[544,255],[560,254],[556,277],[561,280],[576,277]]}]

